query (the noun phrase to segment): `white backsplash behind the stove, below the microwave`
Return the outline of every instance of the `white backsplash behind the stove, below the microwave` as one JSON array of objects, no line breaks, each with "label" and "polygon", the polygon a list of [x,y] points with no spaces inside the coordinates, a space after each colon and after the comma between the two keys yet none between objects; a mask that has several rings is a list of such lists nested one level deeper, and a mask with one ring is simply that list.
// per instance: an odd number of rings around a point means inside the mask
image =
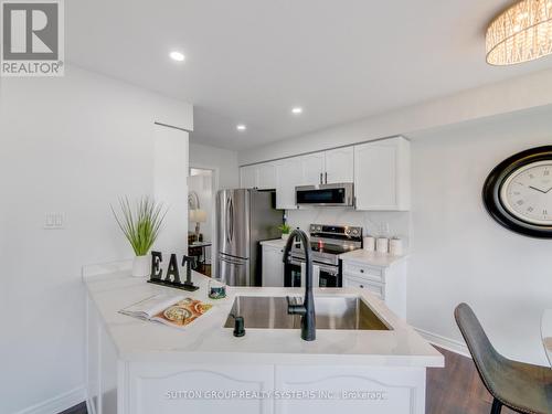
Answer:
[{"label": "white backsplash behind the stove, below the microwave", "polygon": [[353,211],[346,208],[314,208],[286,210],[291,229],[309,230],[309,224],[336,224],[361,226],[363,235],[381,235],[389,226],[389,236],[400,237],[408,246],[411,213],[397,211]]}]

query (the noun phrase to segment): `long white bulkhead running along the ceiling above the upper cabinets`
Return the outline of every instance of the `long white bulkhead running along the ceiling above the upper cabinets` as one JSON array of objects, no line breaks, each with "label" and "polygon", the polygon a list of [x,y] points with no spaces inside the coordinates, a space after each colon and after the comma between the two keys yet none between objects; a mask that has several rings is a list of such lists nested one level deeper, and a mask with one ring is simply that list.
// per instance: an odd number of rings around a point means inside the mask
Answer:
[{"label": "long white bulkhead running along the ceiling above the upper cabinets", "polygon": [[240,152],[240,164],[267,161],[371,139],[552,104],[552,71],[464,91],[370,118]]}]

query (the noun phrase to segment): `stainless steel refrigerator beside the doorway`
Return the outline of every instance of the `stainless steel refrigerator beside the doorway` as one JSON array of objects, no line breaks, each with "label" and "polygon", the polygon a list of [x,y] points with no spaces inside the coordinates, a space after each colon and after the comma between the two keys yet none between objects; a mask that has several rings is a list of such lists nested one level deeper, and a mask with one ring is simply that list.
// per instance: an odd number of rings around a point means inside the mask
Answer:
[{"label": "stainless steel refrigerator beside the doorway", "polygon": [[274,191],[221,190],[216,194],[216,268],[230,286],[261,286],[258,242],[280,237],[284,212]]}]

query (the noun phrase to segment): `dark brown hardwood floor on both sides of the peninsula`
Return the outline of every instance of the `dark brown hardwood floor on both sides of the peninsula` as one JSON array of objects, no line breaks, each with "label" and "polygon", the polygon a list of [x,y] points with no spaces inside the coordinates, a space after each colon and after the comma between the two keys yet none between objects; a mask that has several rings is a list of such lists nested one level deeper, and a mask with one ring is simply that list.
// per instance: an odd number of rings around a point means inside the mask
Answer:
[{"label": "dark brown hardwood floor on both sides of the peninsula", "polygon": [[[489,414],[492,397],[485,389],[474,362],[437,348],[445,355],[445,368],[427,371],[426,414]],[[502,408],[502,414],[514,413]],[[61,414],[86,414],[84,403]]]}]

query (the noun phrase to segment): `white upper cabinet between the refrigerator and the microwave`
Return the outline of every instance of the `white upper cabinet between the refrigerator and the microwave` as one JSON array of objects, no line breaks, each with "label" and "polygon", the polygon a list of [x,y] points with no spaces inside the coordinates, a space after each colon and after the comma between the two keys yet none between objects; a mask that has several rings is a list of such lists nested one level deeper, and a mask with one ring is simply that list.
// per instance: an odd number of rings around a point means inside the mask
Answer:
[{"label": "white upper cabinet between the refrigerator and the microwave", "polygon": [[302,184],[301,157],[276,162],[276,209],[295,209],[295,188]]}]

